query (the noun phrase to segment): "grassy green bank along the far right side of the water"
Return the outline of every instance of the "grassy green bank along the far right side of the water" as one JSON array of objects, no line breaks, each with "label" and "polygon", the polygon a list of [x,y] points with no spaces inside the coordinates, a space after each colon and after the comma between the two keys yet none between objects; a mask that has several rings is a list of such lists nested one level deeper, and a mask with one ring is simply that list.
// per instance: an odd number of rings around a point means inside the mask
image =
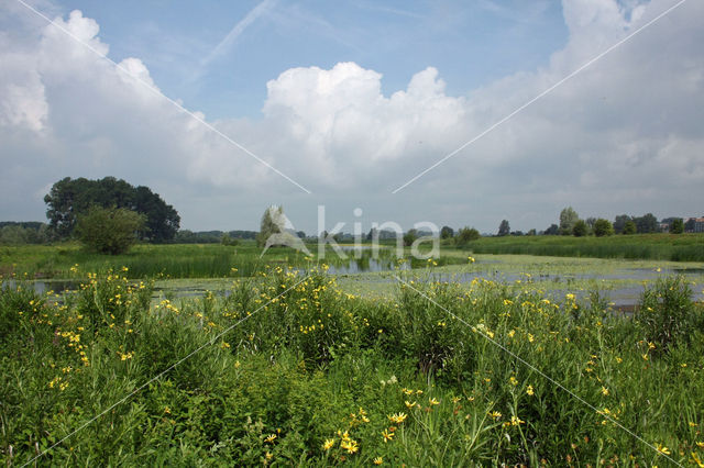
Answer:
[{"label": "grassy green bank along the far right side of the water", "polygon": [[482,237],[464,249],[475,254],[704,261],[704,234]]}]

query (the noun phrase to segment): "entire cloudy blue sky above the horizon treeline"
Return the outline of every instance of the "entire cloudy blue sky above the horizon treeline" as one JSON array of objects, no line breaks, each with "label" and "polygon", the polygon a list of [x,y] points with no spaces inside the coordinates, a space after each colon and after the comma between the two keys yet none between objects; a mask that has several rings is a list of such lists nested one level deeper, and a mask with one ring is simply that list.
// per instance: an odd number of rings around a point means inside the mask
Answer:
[{"label": "entire cloudy blue sky above the horizon treeline", "polygon": [[106,176],[194,231],[271,204],[307,233],[701,216],[702,24],[698,0],[0,0],[0,220]]}]

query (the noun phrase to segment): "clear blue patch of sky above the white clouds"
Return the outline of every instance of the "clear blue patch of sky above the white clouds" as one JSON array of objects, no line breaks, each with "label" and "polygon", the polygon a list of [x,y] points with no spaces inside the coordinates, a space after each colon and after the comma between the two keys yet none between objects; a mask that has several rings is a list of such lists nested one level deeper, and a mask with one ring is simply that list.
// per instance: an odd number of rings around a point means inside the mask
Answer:
[{"label": "clear blue patch of sky above the white clouds", "polygon": [[391,94],[433,66],[462,96],[544,66],[568,38],[556,1],[59,4],[98,21],[111,58],[140,57],[167,96],[213,119],[258,116],[266,81],[293,67],[354,62]]}]

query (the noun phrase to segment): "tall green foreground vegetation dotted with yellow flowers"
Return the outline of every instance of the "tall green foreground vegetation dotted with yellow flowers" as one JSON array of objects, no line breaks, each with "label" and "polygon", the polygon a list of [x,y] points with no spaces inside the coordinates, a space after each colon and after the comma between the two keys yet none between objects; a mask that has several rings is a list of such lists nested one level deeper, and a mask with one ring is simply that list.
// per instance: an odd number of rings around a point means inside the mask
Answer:
[{"label": "tall green foreground vegetation dotted with yellow flowers", "polygon": [[275,268],[229,296],[155,305],[125,271],[88,274],[59,302],[6,288],[3,461],[704,460],[704,310],[681,278],[647,290],[632,319],[598,294],[404,280],[372,301]]}]

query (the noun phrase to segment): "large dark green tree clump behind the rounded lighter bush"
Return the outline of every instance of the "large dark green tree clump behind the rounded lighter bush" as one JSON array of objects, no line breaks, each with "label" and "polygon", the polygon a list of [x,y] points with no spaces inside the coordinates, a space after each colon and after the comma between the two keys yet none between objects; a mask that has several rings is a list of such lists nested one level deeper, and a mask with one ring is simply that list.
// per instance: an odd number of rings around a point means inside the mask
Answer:
[{"label": "large dark green tree clump behind the rounded lighter bush", "polygon": [[54,183],[44,202],[50,227],[63,238],[73,234],[78,216],[94,205],[124,208],[143,214],[145,223],[139,235],[152,242],[173,239],[180,224],[178,212],[157,193],[114,177],[99,180],[66,177]]}]

